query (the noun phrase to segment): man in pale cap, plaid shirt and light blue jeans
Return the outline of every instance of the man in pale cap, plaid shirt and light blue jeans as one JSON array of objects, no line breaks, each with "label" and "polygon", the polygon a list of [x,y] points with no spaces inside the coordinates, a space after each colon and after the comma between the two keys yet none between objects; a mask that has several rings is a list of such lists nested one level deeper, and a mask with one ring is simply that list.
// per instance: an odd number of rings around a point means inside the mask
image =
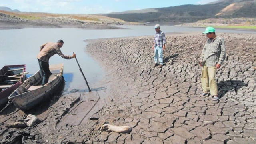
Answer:
[{"label": "man in pale cap, plaid shirt and light blue jeans", "polygon": [[159,66],[158,68],[162,68],[163,66],[163,50],[165,49],[165,34],[160,30],[160,25],[155,25],[155,36],[154,36],[154,43],[152,46],[152,50],[154,50],[154,67],[158,66],[158,59],[159,59]]}]

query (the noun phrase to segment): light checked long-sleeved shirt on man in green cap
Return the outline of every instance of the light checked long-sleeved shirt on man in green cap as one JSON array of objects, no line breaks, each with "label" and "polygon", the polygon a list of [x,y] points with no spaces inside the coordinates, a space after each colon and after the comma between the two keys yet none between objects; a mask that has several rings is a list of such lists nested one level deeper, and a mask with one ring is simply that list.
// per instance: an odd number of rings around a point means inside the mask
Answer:
[{"label": "light checked long-sleeved shirt on man in green cap", "polygon": [[216,64],[222,64],[226,57],[226,48],[224,39],[216,36],[214,40],[207,39],[202,51],[200,60],[205,62],[206,67],[213,67]]}]

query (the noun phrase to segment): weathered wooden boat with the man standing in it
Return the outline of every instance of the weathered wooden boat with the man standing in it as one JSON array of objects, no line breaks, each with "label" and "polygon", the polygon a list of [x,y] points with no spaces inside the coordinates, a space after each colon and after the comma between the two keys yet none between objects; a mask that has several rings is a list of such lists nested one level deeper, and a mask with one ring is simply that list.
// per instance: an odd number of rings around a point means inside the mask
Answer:
[{"label": "weathered wooden boat with the man standing in it", "polygon": [[49,82],[42,86],[40,70],[24,81],[12,94],[10,100],[17,108],[23,111],[29,110],[37,104],[46,100],[55,90],[58,89],[63,80],[63,64],[50,65],[52,75]]}]

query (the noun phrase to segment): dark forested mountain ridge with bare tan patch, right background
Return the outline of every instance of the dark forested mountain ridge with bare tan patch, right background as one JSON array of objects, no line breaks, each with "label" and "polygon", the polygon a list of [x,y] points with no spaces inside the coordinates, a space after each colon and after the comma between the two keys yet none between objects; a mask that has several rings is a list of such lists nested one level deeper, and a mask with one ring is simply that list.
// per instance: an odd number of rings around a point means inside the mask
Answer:
[{"label": "dark forested mountain ridge with bare tan patch, right background", "polygon": [[204,5],[186,4],[166,8],[101,14],[127,22],[190,23],[209,18],[255,18],[256,0],[218,0]]}]

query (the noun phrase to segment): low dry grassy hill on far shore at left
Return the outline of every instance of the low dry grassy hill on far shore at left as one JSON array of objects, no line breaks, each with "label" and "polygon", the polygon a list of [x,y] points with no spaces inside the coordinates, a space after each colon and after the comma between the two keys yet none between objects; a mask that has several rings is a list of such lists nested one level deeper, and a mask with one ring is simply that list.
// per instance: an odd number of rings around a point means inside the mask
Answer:
[{"label": "low dry grassy hill on far shore at left", "polygon": [[117,18],[88,14],[8,12],[0,10],[0,29],[9,28],[86,28],[112,29],[111,25],[138,24]]}]

